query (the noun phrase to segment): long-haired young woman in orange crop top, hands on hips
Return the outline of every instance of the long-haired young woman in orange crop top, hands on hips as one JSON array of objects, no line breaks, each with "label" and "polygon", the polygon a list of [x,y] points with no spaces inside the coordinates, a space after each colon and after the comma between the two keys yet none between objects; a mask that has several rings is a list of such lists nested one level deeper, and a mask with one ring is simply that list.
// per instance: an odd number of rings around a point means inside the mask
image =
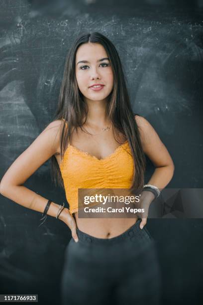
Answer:
[{"label": "long-haired young woman in orange crop top, hands on hips", "polygon": [[[156,167],[147,185],[145,154]],[[69,209],[22,186],[50,157],[54,180],[64,186]],[[0,192],[43,215],[56,216],[70,228],[61,281],[63,305],[157,305],[160,270],[155,242],[144,227],[147,212],[133,218],[80,218],[78,192],[136,190],[147,211],[173,172],[172,158],[153,127],[133,114],[114,45],[94,32],[75,40],[66,59],[55,120],[8,168]]]}]

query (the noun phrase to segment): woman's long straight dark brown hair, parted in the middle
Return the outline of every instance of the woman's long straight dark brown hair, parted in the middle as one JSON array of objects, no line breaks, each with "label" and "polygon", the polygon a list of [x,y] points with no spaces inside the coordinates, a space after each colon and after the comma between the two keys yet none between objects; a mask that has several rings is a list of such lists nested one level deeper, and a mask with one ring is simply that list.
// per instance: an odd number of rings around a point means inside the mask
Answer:
[{"label": "woman's long straight dark brown hair, parted in the middle", "polygon": [[[56,109],[55,119],[62,120],[60,136],[61,159],[71,139],[72,130],[84,124],[83,118],[87,120],[88,106],[83,100],[75,75],[75,58],[77,49],[83,43],[100,43],[104,47],[110,60],[114,76],[114,84],[108,96],[106,113],[112,122],[113,128],[124,135],[131,148],[134,161],[134,174],[131,190],[141,190],[144,184],[144,171],[146,158],[142,149],[138,126],[135,121],[135,114],[132,111],[130,99],[126,87],[125,76],[119,55],[112,42],[99,32],[83,33],[70,48],[64,68],[63,81],[61,85],[59,102]],[[68,128],[66,128],[66,123]],[[64,187],[60,168],[56,157],[51,157],[52,178],[56,184]]]}]

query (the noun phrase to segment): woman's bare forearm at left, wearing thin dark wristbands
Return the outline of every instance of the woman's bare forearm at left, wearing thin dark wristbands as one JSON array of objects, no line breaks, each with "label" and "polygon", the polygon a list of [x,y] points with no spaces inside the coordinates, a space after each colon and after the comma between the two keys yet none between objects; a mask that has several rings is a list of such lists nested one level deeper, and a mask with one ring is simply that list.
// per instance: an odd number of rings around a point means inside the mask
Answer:
[{"label": "woman's bare forearm at left, wearing thin dark wristbands", "polygon": [[[35,210],[41,213],[43,213],[48,201],[48,199],[38,195],[37,193],[33,192],[32,190],[28,189],[23,185],[10,186],[9,190],[1,191],[1,194],[28,209]],[[47,211],[47,215],[56,217],[59,207],[59,204],[51,202],[50,207]],[[64,208],[63,211],[60,213],[58,219],[64,221],[67,213],[69,213],[68,209]]]}]

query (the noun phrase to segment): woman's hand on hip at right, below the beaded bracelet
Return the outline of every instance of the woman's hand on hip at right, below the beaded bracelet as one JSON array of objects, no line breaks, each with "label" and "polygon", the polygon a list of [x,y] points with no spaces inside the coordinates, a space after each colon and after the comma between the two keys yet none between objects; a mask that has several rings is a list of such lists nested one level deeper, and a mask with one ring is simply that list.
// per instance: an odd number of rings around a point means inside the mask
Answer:
[{"label": "woman's hand on hip at right, below the beaded bracelet", "polygon": [[142,221],[140,222],[140,229],[143,229],[143,227],[147,223],[149,206],[150,206],[151,202],[155,199],[155,195],[148,190],[143,190],[141,192],[141,195],[139,198],[140,199],[139,199],[138,206],[140,209],[144,209],[144,213],[138,212],[137,215],[139,218],[142,219]]}]

